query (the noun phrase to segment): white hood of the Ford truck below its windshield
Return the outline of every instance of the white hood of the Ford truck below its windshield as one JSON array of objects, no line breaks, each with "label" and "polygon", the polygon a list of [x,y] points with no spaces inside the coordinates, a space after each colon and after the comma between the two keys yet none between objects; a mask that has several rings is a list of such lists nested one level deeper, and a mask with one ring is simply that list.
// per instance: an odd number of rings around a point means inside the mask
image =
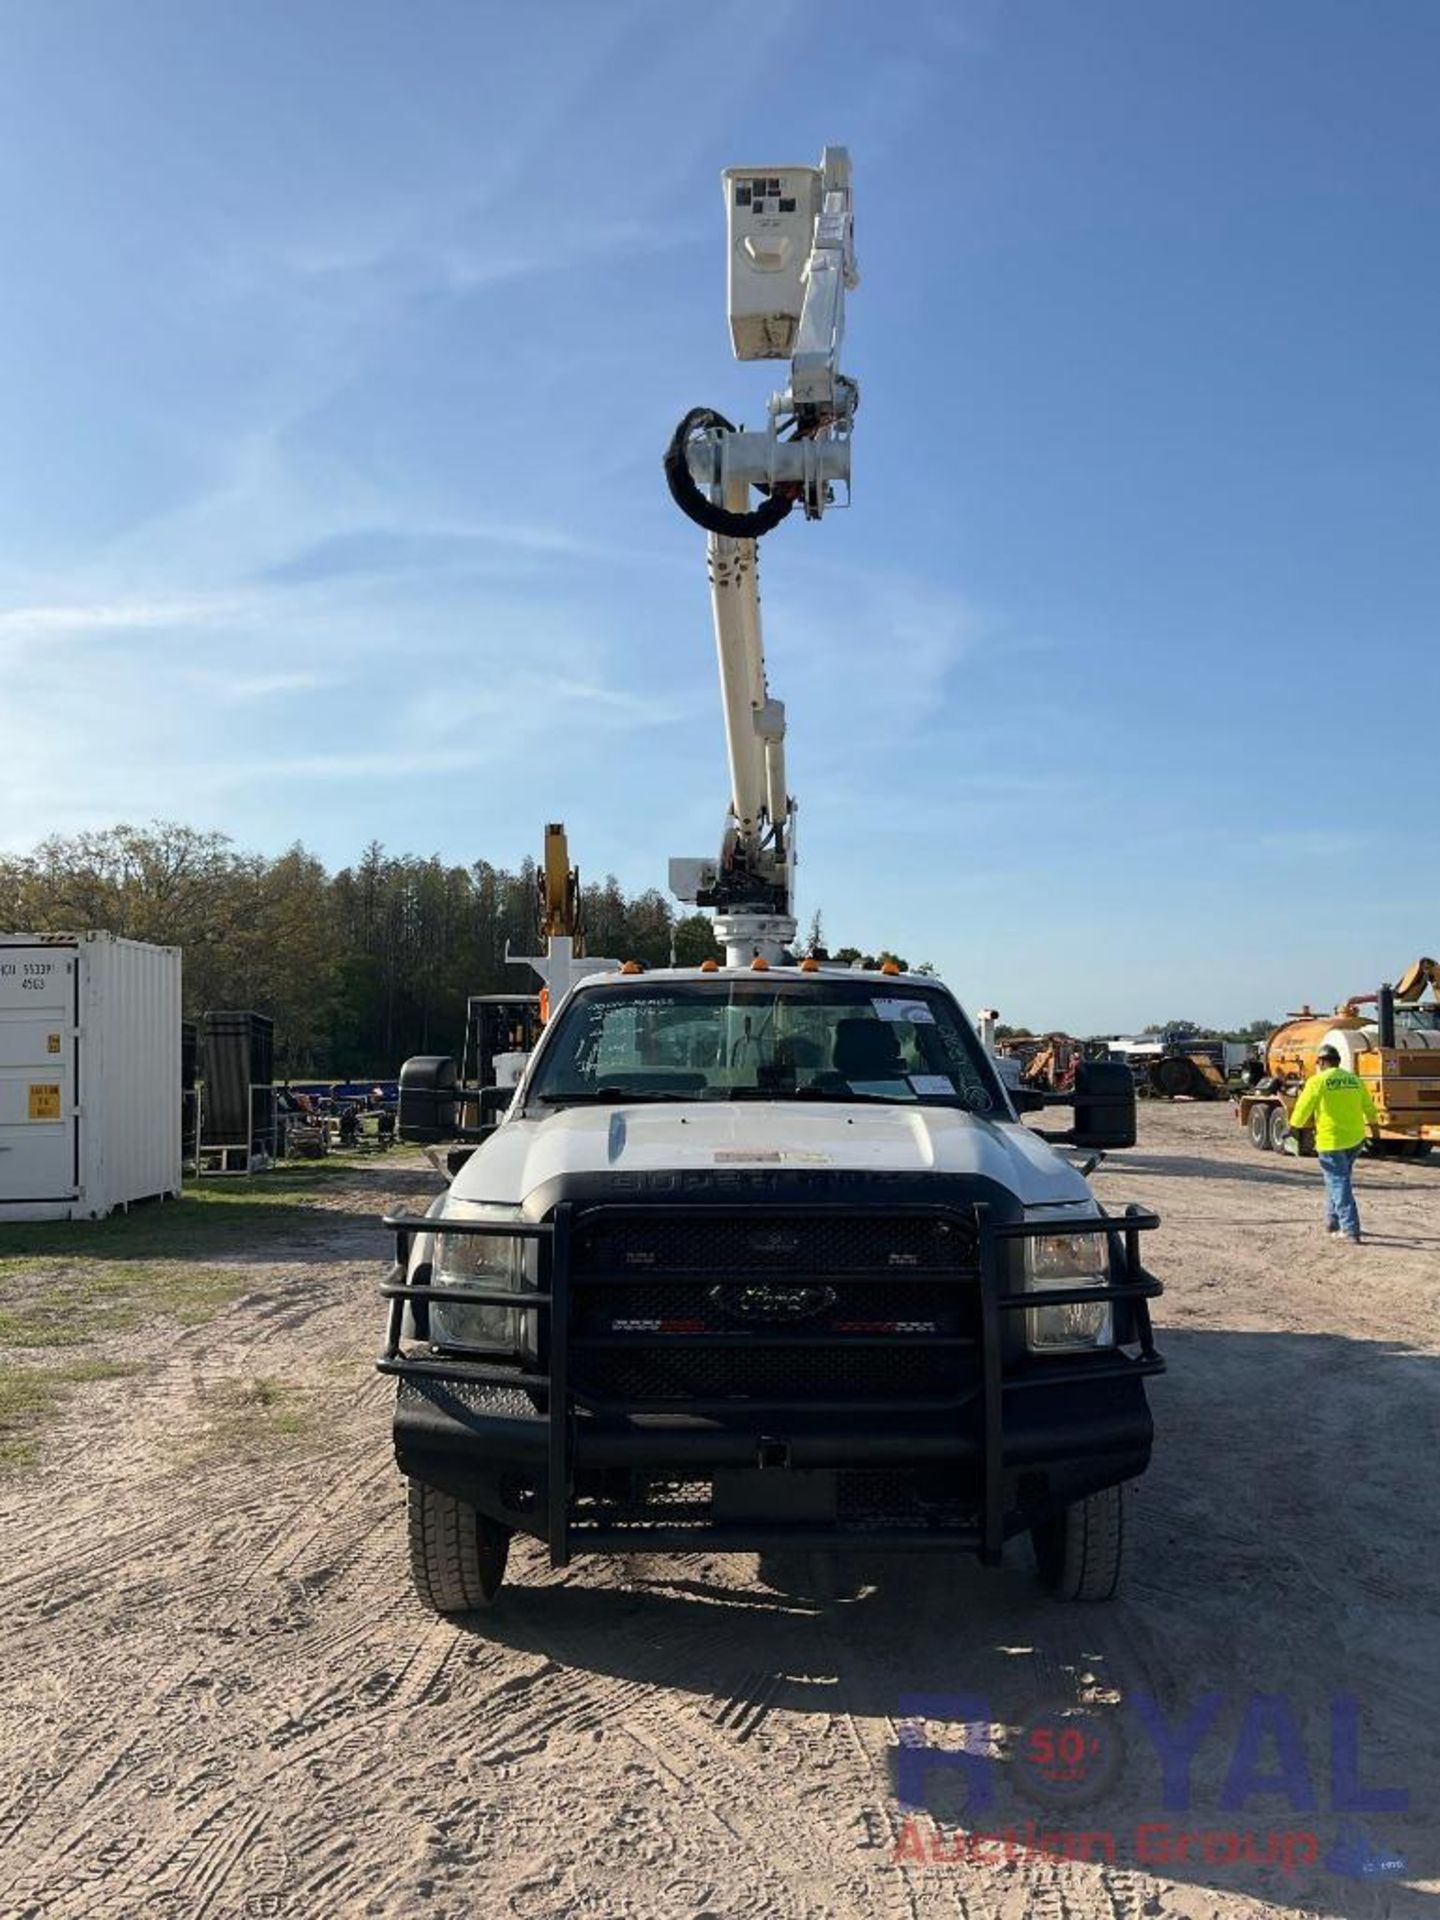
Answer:
[{"label": "white hood of the Ford truck below its windshield", "polygon": [[545,1119],[507,1119],[461,1167],[449,1196],[518,1206],[574,1173],[766,1165],[970,1173],[1008,1188],[1021,1206],[1091,1200],[1081,1173],[1018,1121],[945,1106],[797,1100],[572,1106]]}]

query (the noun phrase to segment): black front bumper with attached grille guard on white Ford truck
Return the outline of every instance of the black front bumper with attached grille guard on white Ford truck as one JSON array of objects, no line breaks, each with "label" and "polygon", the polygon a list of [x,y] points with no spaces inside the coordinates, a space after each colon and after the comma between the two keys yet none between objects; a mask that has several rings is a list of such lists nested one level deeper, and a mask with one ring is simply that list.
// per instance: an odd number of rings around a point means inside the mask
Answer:
[{"label": "black front bumper with attached grille guard on white Ford truck", "polygon": [[[854,1206],[793,1202],[747,1204],[747,1221],[804,1213],[810,1219],[870,1217]],[[1137,1208],[1114,1219],[1066,1221],[1064,1231],[1092,1231],[1110,1244],[1110,1284],[1046,1292],[1046,1306],[1114,1302],[1117,1346],[1104,1352],[1037,1357],[1025,1352],[1016,1313],[1037,1304],[1014,1284],[1016,1242],[1054,1233],[1056,1223],[996,1219],[985,1202],[887,1206],[885,1217],[952,1221],[973,1260],[948,1275],[964,1304],[958,1327],[939,1336],[891,1331],[866,1336],[793,1327],[745,1327],[743,1332],[639,1331],[588,1332],[576,1313],[576,1290],[624,1284],[624,1275],[576,1271],[578,1227],[595,1221],[655,1221],[645,1204],[576,1206],[557,1202],[545,1219],[493,1223],[445,1221],[445,1233],[505,1233],[540,1242],[540,1279],[532,1290],[501,1286],[432,1288],[407,1275],[415,1233],[434,1233],[434,1219],[396,1215],[397,1263],[382,1288],[390,1331],[378,1367],[396,1375],[396,1457],[405,1475],[476,1505],[490,1517],[545,1540],[551,1563],[574,1551],[693,1551],[766,1548],[945,1548],[972,1549],[995,1563],[1006,1536],[1046,1513],[1142,1473],[1150,1457],[1150,1411],[1144,1379],[1164,1371],[1156,1354],[1148,1302],[1162,1290],[1140,1261],[1142,1231],[1158,1225]],[[735,1208],[685,1208],[687,1219],[712,1215],[733,1223]],[[674,1215],[672,1215],[674,1217]],[[804,1279],[810,1279],[808,1275]],[[895,1284],[912,1281],[891,1277]],[[829,1273],[841,1294],[864,1284],[874,1298],[877,1275]],[[799,1279],[795,1281],[799,1284]],[[505,1306],[534,1315],[534,1363],[482,1363],[434,1352],[407,1352],[401,1340],[407,1308],[424,1321],[428,1302]],[[854,1296],[852,1296],[854,1298]],[[954,1348],[945,1392],[908,1398],[876,1390],[889,1365],[935,1348]],[[841,1354],[839,1350],[847,1352]],[[866,1350],[862,1379],[870,1390],[852,1400],[768,1398],[728,1392],[616,1398],[595,1390],[595,1357],[664,1350],[743,1356],[789,1352],[797,1377],[804,1363],[837,1365]],[[770,1363],[774,1377],[774,1363]],[[605,1375],[599,1375],[605,1379]],[[624,1375],[622,1375],[624,1377]]]}]

